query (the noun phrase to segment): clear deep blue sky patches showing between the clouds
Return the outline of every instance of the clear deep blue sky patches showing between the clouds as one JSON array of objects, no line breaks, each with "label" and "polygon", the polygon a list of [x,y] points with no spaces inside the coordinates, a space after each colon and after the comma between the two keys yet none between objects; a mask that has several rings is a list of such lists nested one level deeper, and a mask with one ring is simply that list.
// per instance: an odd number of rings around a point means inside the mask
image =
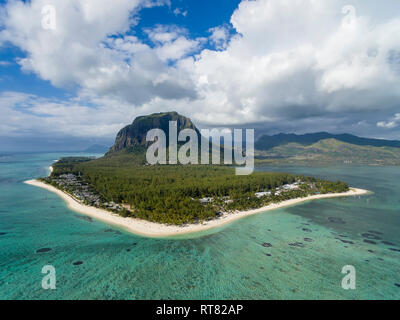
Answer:
[{"label": "clear deep blue sky patches showing between the clouds", "polygon": [[[0,5],[6,2],[0,0]],[[240,0],[171,0],[170,3],[166,6],[143,9],[140,13],[139,24],[129,33],[149,43],[143,29],[152,28],[155,25],[179,25],[186,28],[194,37],[208,37],[210,28],[229,23]],[[176,9],[179,9],[180,13],[174,13]],[[185,12],[186,14],[183,15],[182,13]],[[206,47],[212,46],[208,44]],[[9,63],[0,65],[2,91],[24,91],[42,97],[61,99],[75,92],[74,86],[54,87],[49,81],[43,81],[35,74],[22,72],[16,60],[25,56],[25,52],[10,43],[1,47],[0,61]]]}]

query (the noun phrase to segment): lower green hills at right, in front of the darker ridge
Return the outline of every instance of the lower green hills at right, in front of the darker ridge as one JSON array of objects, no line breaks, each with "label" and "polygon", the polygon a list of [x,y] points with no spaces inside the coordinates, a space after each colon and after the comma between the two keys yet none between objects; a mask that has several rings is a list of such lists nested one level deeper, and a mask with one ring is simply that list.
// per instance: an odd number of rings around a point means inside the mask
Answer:
[{"label": "lower green hills at right, in front of the darker ridge", "polygon": [[400,165],[400,148],[359,146],[337,139],[324,139],[314,144],[287,143],[258,151],[258,161],[280,163],[331,163]]}]

